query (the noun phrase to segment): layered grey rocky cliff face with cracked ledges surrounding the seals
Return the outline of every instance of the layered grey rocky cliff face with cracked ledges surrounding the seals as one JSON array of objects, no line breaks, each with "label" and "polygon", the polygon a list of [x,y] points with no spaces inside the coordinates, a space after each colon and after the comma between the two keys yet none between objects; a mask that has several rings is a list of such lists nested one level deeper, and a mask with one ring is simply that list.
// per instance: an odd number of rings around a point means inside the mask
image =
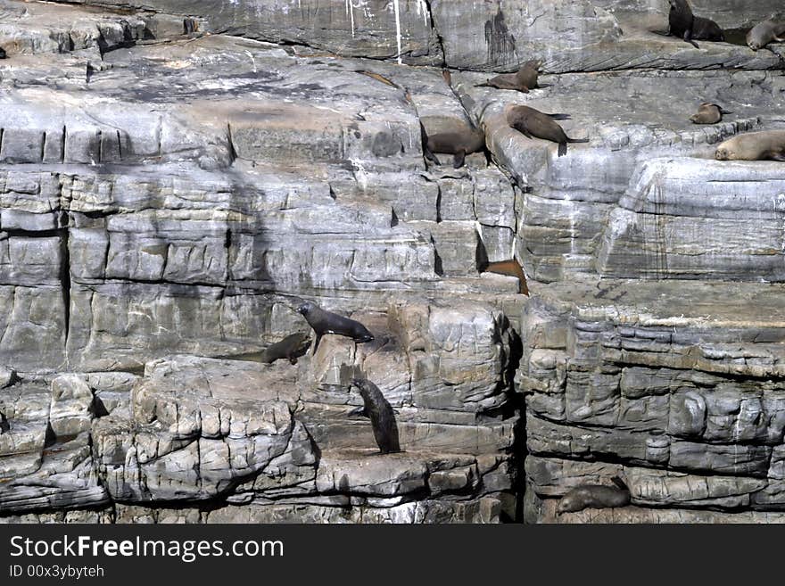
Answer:
[{"label": "layered grey rocky cliff face with cracked ledges surrounding the seals", "polygon": [[[713,159],[785,128],[785,46],[665,0],[91,4],[0,2],[0,521],[785,520],[785,167]],[[693,7],[781,12],[741,4]],[[260,362],[302,299],[374,342]]]}]

